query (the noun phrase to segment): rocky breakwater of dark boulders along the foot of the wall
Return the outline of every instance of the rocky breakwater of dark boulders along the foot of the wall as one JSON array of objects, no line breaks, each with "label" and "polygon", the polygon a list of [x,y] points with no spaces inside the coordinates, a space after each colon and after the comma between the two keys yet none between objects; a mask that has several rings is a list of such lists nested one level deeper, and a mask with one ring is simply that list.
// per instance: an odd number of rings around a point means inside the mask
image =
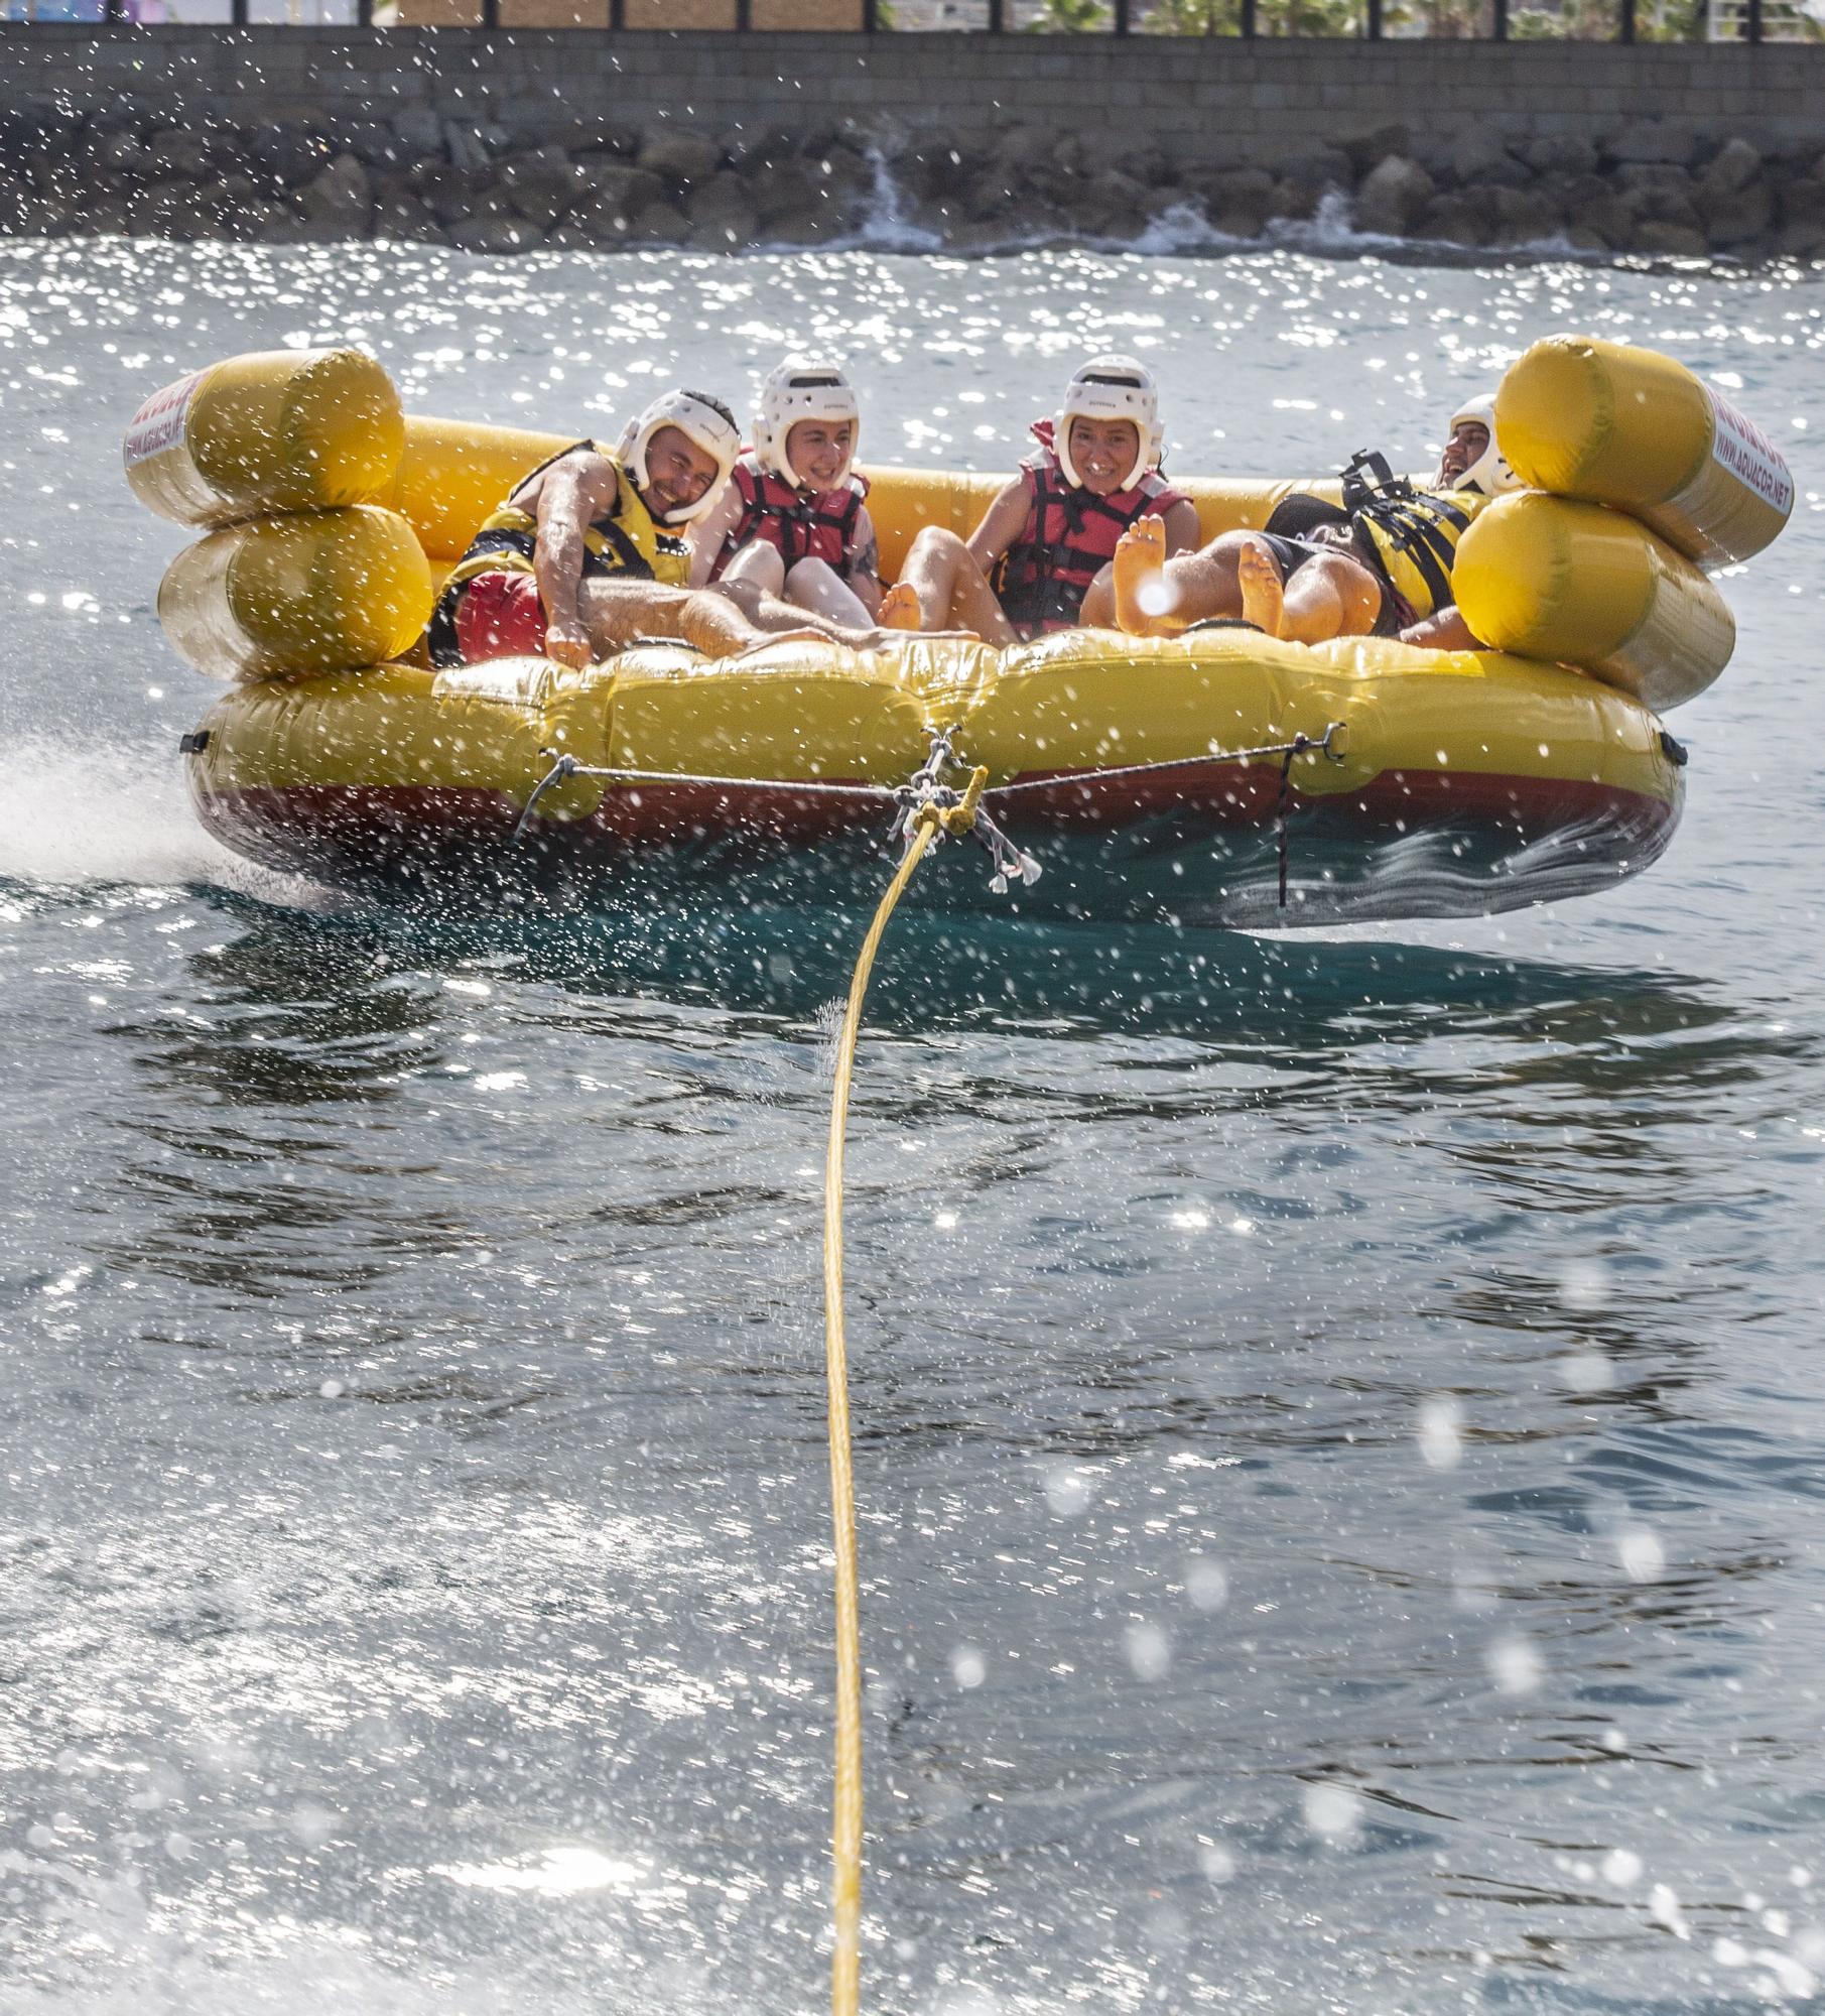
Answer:
[{"label": "rocky breakwater of dark boulders along the foot of the wall", "polygon": [[576,119],[550,101],[485,121],[236,121],[117,101],[0,111],[0,230],[397,238],[465,252],[890,242],[987,252],[1047,240],[1192,246],[1319,220],[1390,238],[1660,258],[1825,256],[1825,147],[1672,123],[1601,141],[1386,127],[1273,163],[1013,127],[993,145],[854,127],[703,133]]}]

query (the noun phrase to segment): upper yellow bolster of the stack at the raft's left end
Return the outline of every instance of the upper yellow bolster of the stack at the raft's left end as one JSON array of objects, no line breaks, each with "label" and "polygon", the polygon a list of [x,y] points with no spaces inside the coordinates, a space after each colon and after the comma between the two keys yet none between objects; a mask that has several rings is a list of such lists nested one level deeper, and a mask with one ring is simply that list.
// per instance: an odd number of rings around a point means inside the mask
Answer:
[{"label": "upper yellow bolster of the stack at the raft's left end", "polygon": [[218,526],[260,512],[365,504],[405,444],[399,393],[361,351],[256,351],[151,395],[123,442],[147,510]]}]

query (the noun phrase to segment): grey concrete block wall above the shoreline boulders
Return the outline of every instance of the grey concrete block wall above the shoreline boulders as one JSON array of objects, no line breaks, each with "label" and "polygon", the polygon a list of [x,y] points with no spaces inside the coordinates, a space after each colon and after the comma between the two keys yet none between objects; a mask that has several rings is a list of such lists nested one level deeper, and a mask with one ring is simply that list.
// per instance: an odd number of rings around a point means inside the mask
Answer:
[{"label": "grey concrete block wall above the shoreline boulders", "polygon": [[[508,4],[590,18],[596,0]],[[709,16],[733,0],[691,4]],[[238,117],[435,107],[485,119],[538,99],[711,131],[852,121],[993,135],[1058,119],[1112,159],[1140,133],[1178,155],[1269,165],[1390,123],[1601,139],[1624,121],[1662,119],[1825,145],[1825,46],[1813,44],[0,26],[0,99],[117,95]]]}]

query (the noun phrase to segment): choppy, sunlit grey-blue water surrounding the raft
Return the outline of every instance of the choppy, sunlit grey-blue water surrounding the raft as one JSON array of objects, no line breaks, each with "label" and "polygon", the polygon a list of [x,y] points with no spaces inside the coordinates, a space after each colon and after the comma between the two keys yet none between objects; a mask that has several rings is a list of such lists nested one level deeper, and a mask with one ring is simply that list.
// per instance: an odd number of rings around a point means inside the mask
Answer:
[{"label": "choppy, sunlit grey-blue water surrounding the raft", "polygon": [[[1815,280],[0,250],[4,2006],[824,1998],[818,1175],[854,917],[348,907],[216,851],[123,417],[357,339],[612,427],[838,347],[1005,466],[1420,462],[1585,327],[1803,508],[1601,901],[913,917],[852,1149],[878,2012],[1720,2012],[1825,1976]],[[1726,379],[1732,383],[1732,379]],[[1811,429],[1811,431],[1809,431]]]}]

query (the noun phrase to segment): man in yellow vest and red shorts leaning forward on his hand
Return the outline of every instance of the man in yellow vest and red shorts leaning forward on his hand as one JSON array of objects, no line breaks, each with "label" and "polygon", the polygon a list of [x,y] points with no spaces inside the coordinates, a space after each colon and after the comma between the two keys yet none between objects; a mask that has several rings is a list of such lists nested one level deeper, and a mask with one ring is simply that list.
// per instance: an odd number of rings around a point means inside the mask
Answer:
[{"label": "man in yellow vest and red shorts leaning forward on his hand", "polygon": [[804,631],[806,615],[771,597],[741,609],[687,585],[683,526],[715,502],[739,450],[719,399],[677,389],[639,413],[614,448],[584,439],[542,462],[443,583],[431,663],[550,657],[582,667],[639,637],[729,657]]}]

